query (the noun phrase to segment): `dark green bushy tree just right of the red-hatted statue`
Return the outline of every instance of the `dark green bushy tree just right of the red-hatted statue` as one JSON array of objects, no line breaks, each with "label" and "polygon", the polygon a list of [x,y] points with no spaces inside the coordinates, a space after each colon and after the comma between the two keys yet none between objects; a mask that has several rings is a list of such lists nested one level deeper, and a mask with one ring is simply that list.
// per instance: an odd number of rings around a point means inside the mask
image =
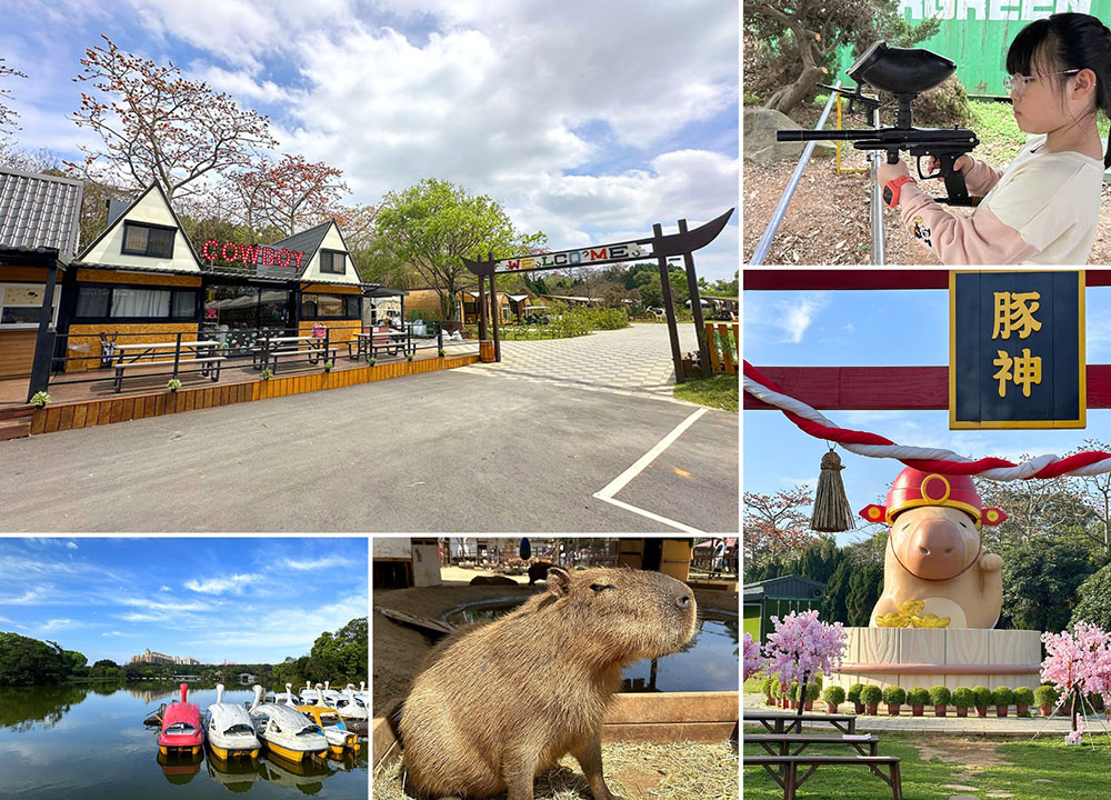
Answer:
[{"label": "dark green bushy tree just right of the red-hatted statue", "polygon": [[1080,542],[1060,537],[1020,542],[1003,560],[1000,627],[1062,630],[1077,589],[1093,571],[1089,551]]}]

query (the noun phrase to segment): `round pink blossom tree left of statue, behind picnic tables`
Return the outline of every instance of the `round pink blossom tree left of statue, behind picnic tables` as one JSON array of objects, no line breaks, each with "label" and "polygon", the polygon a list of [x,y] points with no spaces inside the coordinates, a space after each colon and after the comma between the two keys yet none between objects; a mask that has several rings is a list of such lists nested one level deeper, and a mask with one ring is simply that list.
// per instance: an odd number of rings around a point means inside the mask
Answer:
[{"label": "round pink blossom tree left of statue, behind picnic tables", "polygon": [[[830,674],[841,669],[841,659],[848,634],[840,622],[829,624],[818,619],[818,611],[792,611],[782,620],[772,617],[775,632],[768,636],[764,654],[770,674],[778,674],[780,683],[790,687],[798,681],[800,697],[807,694],[807,683],[819,674]],[[799,703],[799,716],[803,704]]]}]

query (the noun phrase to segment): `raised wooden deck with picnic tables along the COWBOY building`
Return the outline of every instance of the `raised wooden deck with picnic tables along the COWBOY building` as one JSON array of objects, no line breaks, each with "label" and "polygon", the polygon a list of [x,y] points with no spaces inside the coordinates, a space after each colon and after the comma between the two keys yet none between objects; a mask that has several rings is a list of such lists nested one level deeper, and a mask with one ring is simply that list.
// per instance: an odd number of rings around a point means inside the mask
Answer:
[{"label": "raised wooden deck with picnic tables along the COWBOY building", "polygon": [[[67,386],[66,376],[60,376],[58,383],[51,383],[48,390],[50,403],[28,418],[26,433],[53,433],[454,369],[476,363],[479,354],[473,350],[467,348],[466,352],[458,353],[448,350],[443,358],[439,358],[434,349],[418,350],[412,361],[404,358],[379,360],[373,367],[340,356],[330,372],[324,372],[320,364],[283,363],[278,374],[269,380],[261,379],[260,372],[251,367],[250,358],[237,358],[229,360],[230,366],[221,371],[218,382],[199,373],[181,376],[181,388],[176,392],[167,390],[164,374],[146,380],[141,373],[124,378],[120,393],[114,390],[114,370],[111,369],[98,370],[104,380],[93,383]],[[132,372],[134,370],[129,370],[129,376]],[[93,373],[82,377],[91,378]],[[26,408],[26,398],[27,379],[0,381],[0,416]],[[0,424],[14,424],[14,421]]]}]

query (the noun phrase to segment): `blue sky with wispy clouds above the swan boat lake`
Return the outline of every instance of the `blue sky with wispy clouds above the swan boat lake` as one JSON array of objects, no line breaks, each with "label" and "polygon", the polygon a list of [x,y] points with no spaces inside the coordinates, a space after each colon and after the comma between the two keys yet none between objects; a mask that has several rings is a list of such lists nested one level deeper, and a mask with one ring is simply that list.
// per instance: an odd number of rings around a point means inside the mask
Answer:
[{"label": "blue sky with wispy clouds above the swan boat lake", "polygon": [[0,630],[90,664],[273,663],[367,616],[363,538],[0,538]]}]

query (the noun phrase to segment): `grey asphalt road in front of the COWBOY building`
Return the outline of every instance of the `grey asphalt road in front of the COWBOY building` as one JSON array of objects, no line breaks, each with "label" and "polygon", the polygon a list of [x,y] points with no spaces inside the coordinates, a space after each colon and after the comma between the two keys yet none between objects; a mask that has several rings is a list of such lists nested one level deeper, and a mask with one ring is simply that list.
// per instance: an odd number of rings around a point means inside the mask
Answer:
[{"label": "grey asphalt road in front of the COWBOY building", "polygon": [[[675,533],[593,497],[697,411],[635,393],[452,370],[0,442],[0,529]],[[614,500],[735,532],[738,431],[705,410]]]}]

